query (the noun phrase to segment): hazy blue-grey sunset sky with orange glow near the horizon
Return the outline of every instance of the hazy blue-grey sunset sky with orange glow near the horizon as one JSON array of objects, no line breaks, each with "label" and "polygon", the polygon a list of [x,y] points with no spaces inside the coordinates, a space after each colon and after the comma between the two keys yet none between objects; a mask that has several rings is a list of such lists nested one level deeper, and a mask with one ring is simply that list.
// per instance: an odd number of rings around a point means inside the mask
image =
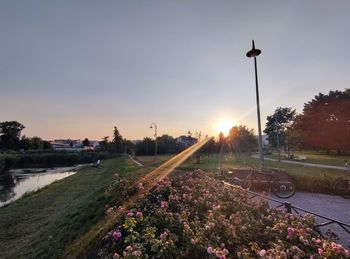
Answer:
[{"label": "hazy blue-grey sunset sky with orange glow near the horizon", "polygon": [[350,87],[350,1],[1,1],[0,121],[28,137],[101,139],[257,132]]}]

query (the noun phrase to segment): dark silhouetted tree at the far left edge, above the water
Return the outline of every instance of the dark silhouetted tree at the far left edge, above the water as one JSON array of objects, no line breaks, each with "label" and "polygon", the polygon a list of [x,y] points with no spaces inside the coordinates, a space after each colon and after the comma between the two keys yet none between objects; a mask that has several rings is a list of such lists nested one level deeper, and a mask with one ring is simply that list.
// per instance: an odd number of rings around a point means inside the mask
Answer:
[{"label": "dark silhouetted tree at the far left edge, above the water", "polygon": [[17,121],[0,122],[0,148],[18,149],[21,131],[24,128]]}]

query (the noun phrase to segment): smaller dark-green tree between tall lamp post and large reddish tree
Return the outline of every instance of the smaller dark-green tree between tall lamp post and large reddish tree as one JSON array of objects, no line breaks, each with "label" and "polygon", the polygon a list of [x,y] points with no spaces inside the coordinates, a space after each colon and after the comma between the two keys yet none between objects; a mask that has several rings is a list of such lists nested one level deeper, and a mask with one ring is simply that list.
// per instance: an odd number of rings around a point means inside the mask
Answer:
[{"label": "smaller dark-green tree between tall lamp post and large reddish tree", "polygon": [[295,119],[296,111],[292,108],[278,107],[272,115],[267,116],[264,132],[269,138],[269,143],[277,147],[277,134],[279,145],[283,146],[285,152],[289,152],[290,129]]}]

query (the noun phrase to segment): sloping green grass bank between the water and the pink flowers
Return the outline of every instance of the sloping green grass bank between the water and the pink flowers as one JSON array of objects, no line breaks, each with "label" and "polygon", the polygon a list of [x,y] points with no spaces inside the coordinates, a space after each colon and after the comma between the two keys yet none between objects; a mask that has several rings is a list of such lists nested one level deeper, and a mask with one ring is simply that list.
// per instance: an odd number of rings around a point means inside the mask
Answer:
[{"label": "sloping green grass bank between the water and the pink flowers", "polygon": [[123,202],[120,193],[147,170],[125,157],[106,160],[101,169],[84,168],[0,208],[0,257],[62,257],[105,218],[108,204]]}]

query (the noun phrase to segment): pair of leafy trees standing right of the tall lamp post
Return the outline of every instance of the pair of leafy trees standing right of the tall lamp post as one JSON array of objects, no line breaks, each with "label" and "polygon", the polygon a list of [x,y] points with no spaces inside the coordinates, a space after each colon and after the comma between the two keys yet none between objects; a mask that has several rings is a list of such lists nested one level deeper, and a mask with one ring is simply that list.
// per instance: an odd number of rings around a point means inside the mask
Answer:
[{"label": "pair of leafy trees standing right of the tall lamp post", "polygon": [[345,154],[350,150],[350,89],[319,93],[304,104],[300,114],[278,107],[267,116],[264,132],[273,147],[278,137],[285,152],[311,148]]}]

